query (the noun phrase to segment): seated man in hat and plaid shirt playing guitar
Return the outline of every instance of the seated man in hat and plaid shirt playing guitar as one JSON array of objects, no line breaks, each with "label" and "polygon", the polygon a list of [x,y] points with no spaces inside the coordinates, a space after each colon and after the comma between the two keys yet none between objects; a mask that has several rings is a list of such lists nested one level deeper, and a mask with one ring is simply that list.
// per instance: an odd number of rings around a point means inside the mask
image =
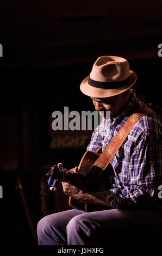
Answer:
[{"label": "seated man in hat and plaid shirt playing guitar", "polygon": [[[110,132],[102,136],[99,125],[87,150],[95,153],[101,148],[105,156],[112,157],[111,170],[104,170],[107,186],[97,192],[88,190],[79,179],[76,186],[67,180],[62,185],[68,196],[88,206],[104,208],[89,212],[72,209],[43,217],[38,223],[39,245],[152,242],[152,228],[162,225],[158,198],[158,187],[162,185],[162,126],[151,109],[139,118],[138,109],[146,105],[130,89],[135,82],[136,74],[129,70],[126,59],[102,56],[80,84],[80,90],[91,97],[96,111],[103,112],[102,125],[110,111]],[[133,126],[127,134],[123,125],[128,120]],[[115,136],[116,142],[124,139],[117,151],[112,144]],[[102,161],[106,162],[107,157]],[[56,168],[60,167],[59,163]],[[102,162],[99,167],[104,169]],[[78,177],[79,168],[73,170]]]}]

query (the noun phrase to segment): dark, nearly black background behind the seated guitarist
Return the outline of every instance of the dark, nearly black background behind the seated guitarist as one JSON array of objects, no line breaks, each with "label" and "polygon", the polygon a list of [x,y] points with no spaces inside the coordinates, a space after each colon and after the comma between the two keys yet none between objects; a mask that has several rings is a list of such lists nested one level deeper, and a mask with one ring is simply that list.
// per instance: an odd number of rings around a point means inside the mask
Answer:
[{"label": "dark, nearly black background behind the seated guitarist", "polygon": [[[1,203],[10,243],[35,245],[41,217],[68,209],[61,188],[48,190],[47,164],[77,166],[90,134],[51,146],[51,115],[64,106],[92,110],[79,84],[99,56],[127,58],[134,89],[161,118],[162,2],[5,1],[1,6]],[[68,134],[60,135],[64,141]],[[46,167],[45,167],[46,166]],[[61,203],[60,203],[61,202]],[[5,237],[4,237],[5,238]],[[7,240],[7,238],[5,238]]]}]

